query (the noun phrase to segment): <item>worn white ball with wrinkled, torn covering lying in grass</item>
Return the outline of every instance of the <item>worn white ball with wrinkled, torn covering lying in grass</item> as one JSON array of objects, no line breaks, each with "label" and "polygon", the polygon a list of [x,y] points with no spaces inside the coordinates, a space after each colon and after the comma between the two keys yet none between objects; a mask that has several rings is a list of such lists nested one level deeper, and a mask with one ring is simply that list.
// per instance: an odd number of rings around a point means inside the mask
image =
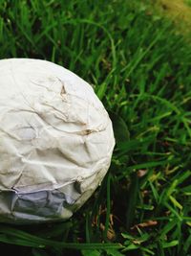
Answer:
[{"label": "worn white ball with wrinkled, torn covering lying in grass", "polygon": [[70,218],[106,175],[114,145],[86,81],[45,60],[0,60],[0,221]]}]

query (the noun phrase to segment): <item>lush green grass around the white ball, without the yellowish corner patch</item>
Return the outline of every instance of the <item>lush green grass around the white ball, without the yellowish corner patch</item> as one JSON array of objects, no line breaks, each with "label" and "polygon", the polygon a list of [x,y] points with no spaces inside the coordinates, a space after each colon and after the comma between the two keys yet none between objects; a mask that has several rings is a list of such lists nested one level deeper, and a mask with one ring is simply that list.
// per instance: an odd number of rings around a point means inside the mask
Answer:
[{"label": "lush green grass around the white ball, without the yellowish corner patch", "polygon": [[0,1],[0,58],[45,58],[95,87],[117,146],[62,223],[0,225],[6,255],[191,255],[191,47],[143,1]]}]

